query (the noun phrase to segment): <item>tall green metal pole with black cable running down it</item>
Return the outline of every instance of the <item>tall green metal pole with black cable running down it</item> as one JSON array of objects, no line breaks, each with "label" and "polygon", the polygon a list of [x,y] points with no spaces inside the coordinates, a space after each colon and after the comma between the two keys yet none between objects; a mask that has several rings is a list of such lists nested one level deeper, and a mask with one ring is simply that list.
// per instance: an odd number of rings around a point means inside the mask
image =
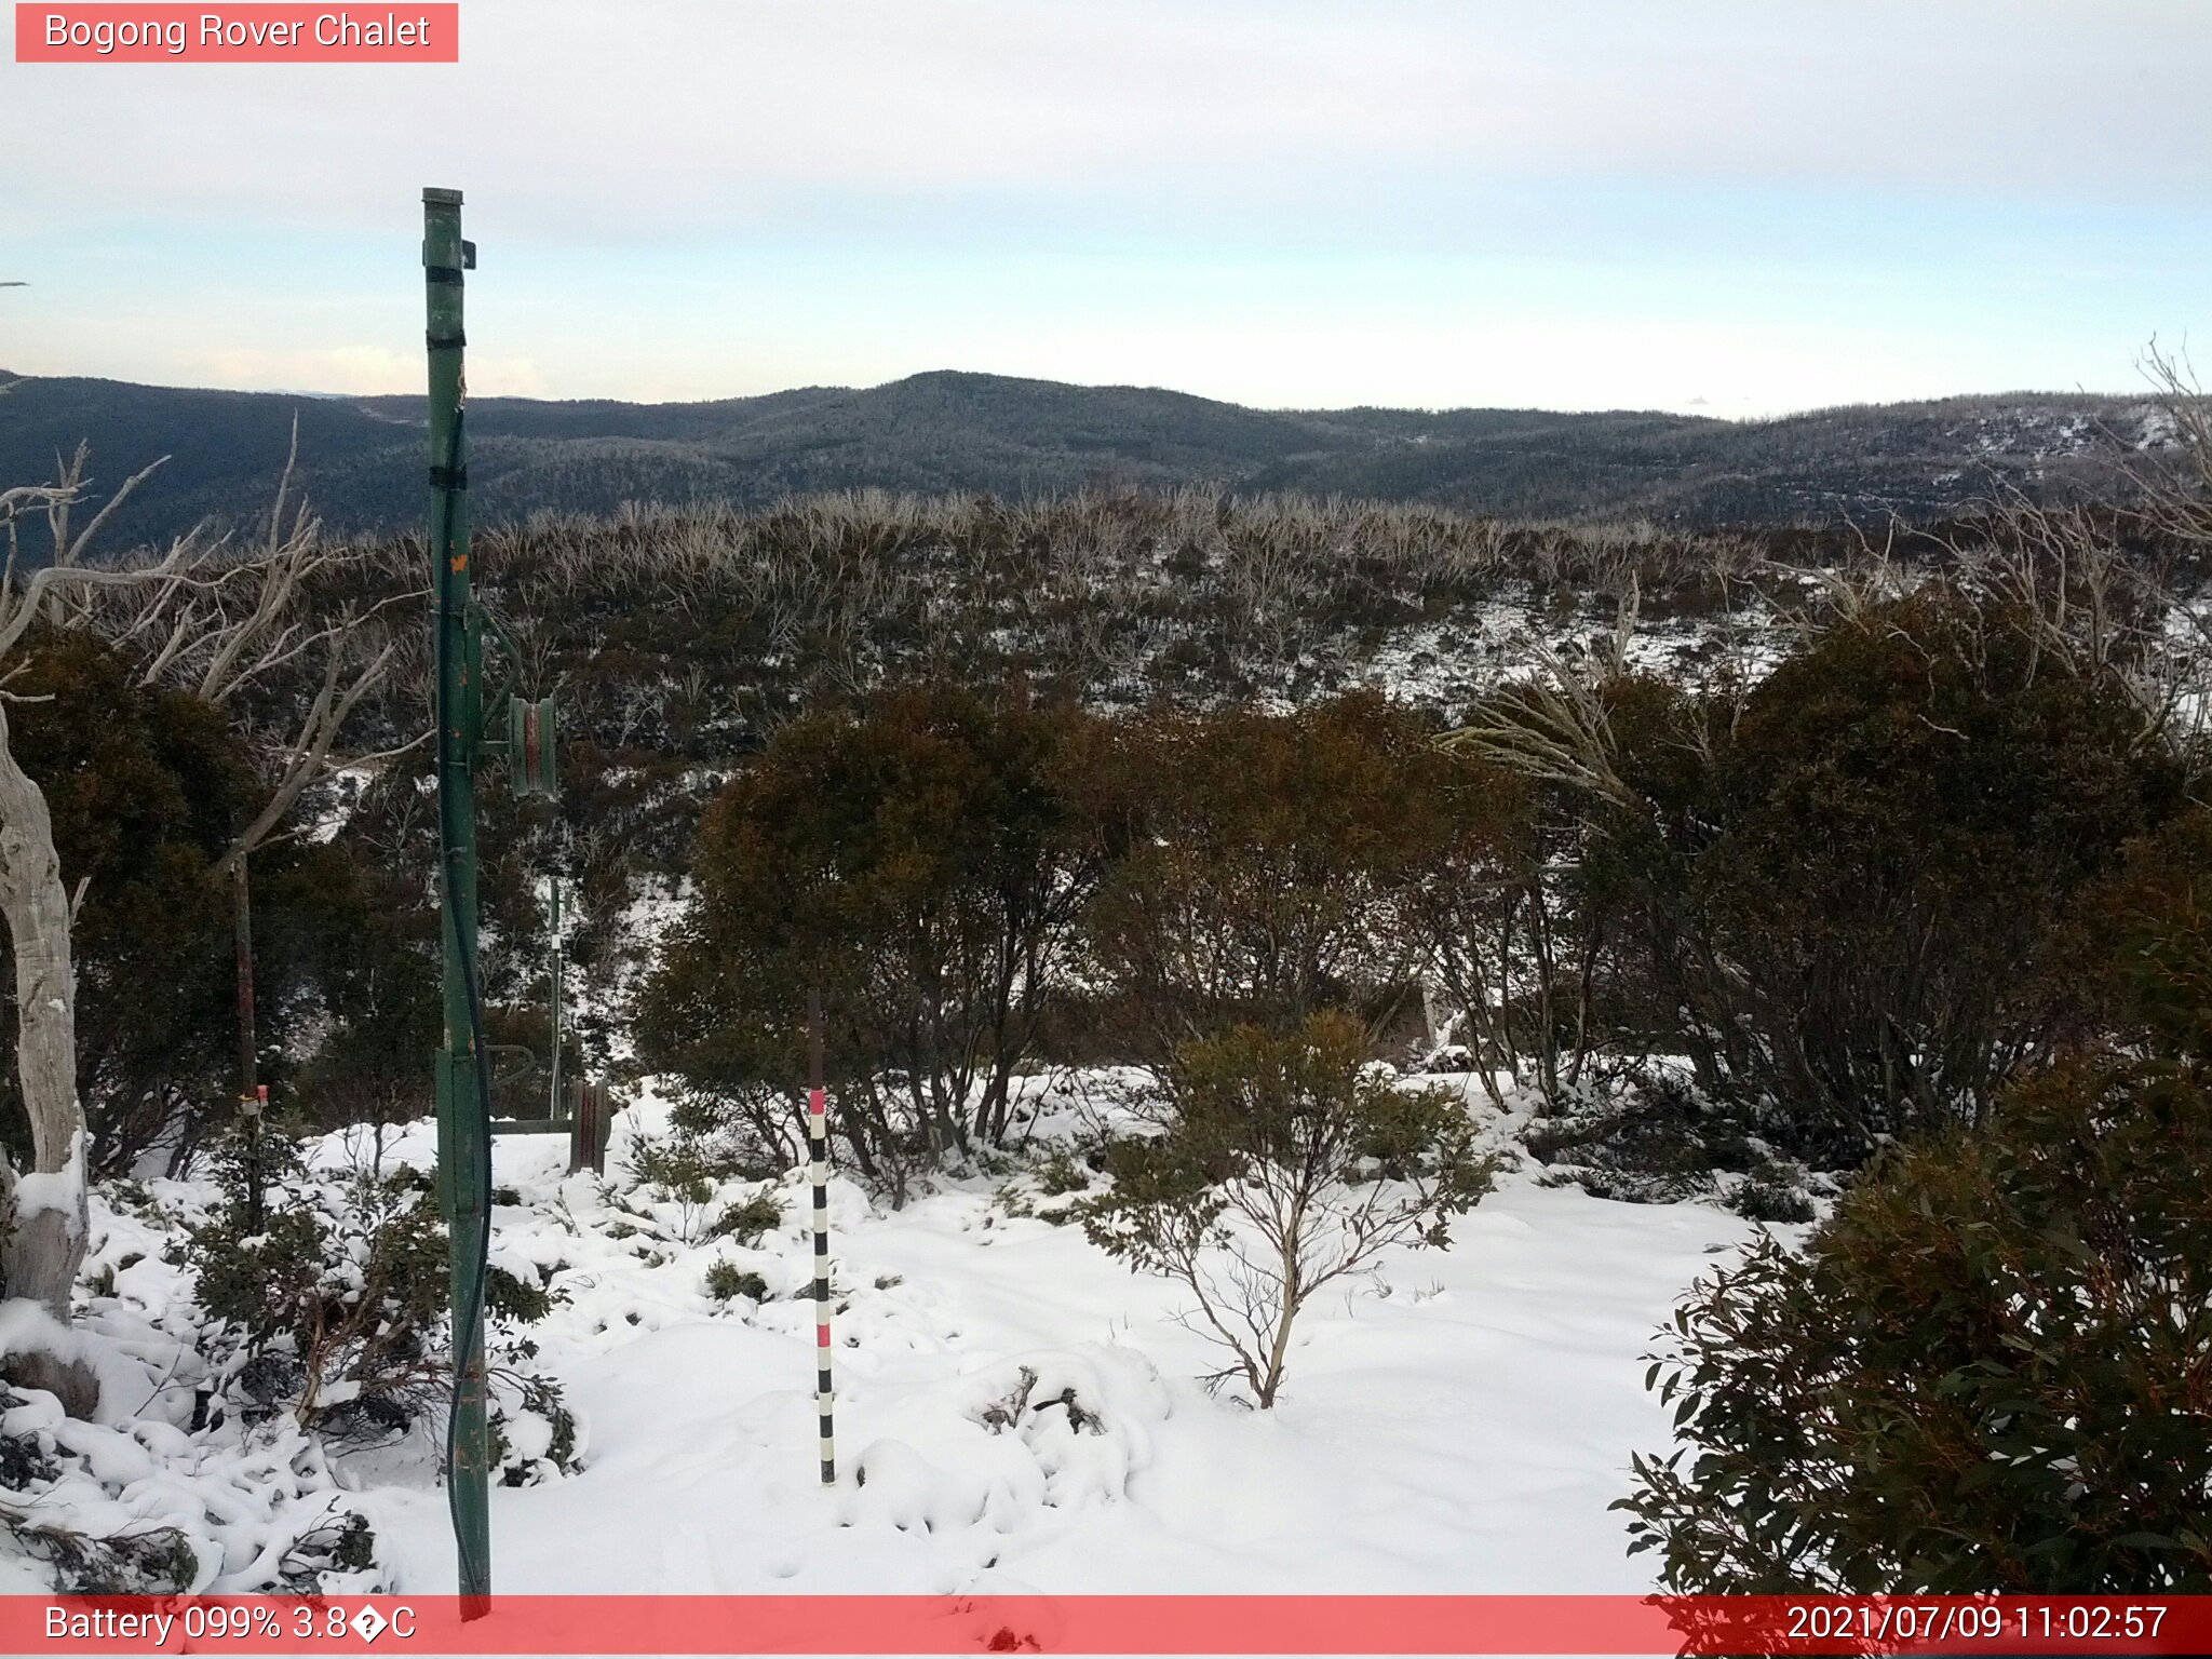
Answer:
[{"label": "tall green metal pole with black cable running down it", "polygon": [[482,641],[469,602],[469,495],[462,442],[460,190],[422,192],[422,283],[429,316],[429,553],[438,646],[438,827],[445,852],[445,1048],[438,1053],[438,1197],[451,1239],[453,1416],[449,1504],[462,1617],[491,1597],[489,1436],[484,1429],[484,1250],[491,1135],[482,1099],[482,1011],[476,975],[476,754],[484,732]]}]

